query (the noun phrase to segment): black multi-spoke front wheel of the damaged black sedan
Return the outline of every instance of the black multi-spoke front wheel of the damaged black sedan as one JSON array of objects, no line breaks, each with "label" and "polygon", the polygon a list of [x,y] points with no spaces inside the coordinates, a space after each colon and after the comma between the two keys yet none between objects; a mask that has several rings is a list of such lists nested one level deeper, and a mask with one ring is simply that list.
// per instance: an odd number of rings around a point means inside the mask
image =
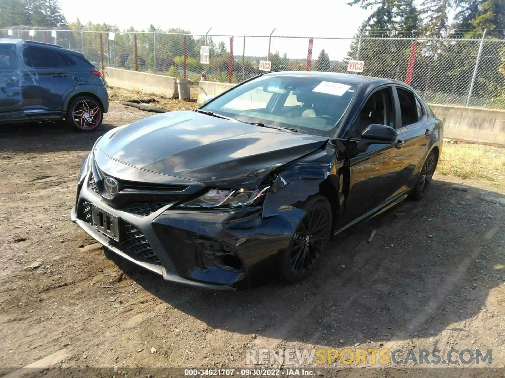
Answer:
[{"label": "black multi-spoke front wheel of the damaged black sedan", "polygon": [[331,206],[324,196],[312,196],[299,208],[307,213],[296,226],[289,247],[280,259],[281,278],[288,283],[301,281],[316,270],[331,232]]}]

